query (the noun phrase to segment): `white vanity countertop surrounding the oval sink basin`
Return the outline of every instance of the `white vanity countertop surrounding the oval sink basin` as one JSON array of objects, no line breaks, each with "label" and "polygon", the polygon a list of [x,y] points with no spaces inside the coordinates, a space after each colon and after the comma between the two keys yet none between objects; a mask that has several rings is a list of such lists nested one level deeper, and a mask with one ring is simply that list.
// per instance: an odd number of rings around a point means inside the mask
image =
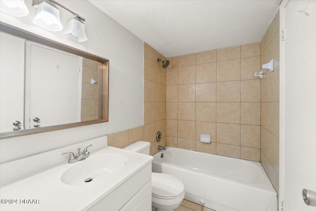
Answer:
[{"label": "white vanity countertop surrounding the oval sink basin", "polygon": [[[98,176],[90,183],[67,185],[62,182],[61,176],[67,169],[104,154],[126,156],[125,167],[113,175],[103,178]],[[0,188],[0,210],[86,211],[152,160],[151,156],[107,147],[90,154],[88,158],[77,163],[63,164]],[[82,171],[84,170],[82,169]]]}]

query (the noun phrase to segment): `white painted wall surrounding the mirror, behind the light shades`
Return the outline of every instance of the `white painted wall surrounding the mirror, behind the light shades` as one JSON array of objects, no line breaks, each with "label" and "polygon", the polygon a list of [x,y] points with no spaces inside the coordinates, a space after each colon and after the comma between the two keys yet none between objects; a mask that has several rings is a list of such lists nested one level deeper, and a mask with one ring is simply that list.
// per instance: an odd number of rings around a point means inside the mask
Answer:
[{"label": "white painted wall surrounding the mirror, behind the light shades", "polygon": [[32,7],[32,0],[26,0],[28,16],[19,18],[0,12],[0,21],[109,59],[109,122],[3,139],[0,163],[143,125],[143,42],[86,0],[57,1],[86,19],[87,42],[78,43],[63,36],[72,15],[62,9],[62,31],[50,32],[33,24],[37,10]]}]

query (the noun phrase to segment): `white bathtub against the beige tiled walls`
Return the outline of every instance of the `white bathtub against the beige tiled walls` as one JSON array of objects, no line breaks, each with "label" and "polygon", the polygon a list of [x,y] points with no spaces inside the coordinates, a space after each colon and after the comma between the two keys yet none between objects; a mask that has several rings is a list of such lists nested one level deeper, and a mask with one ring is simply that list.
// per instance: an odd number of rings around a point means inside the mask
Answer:
[{"label": "white bathtub against the beige tiled walls", "polygon": [[277,211],[276,191],[259,162],[166,148],[154,155],[153,172],[178,177],[186,200],[215,211]]}]

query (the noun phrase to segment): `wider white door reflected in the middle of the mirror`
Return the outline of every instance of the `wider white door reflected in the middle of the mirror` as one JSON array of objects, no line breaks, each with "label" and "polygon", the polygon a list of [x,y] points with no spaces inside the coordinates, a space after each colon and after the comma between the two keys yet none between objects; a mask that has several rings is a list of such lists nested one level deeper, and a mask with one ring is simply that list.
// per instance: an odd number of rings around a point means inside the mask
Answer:
[{"label": "wider white door reflected in the middle of the mirror", "polygon": [[82,57],[26,42],[25,128],[80,122]]}]

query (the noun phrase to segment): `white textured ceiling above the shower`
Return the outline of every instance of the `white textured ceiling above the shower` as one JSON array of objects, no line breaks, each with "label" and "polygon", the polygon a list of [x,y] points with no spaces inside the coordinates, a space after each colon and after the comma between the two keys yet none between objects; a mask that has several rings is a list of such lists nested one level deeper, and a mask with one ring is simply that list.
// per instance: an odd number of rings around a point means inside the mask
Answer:
[{"label": "white textured ceiling above the shower", "polygon": [[166,57],[260,42],[281,3],[281,0],[89,1]]}]

